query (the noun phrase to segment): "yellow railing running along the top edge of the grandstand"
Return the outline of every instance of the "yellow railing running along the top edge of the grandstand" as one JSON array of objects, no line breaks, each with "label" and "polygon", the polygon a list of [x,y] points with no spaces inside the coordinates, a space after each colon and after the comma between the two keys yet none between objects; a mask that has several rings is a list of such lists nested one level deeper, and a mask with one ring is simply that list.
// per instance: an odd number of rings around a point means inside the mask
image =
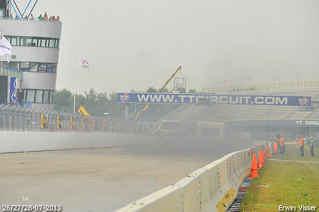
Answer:
[{"label": "yellow railing running along the top edge of the grandstand", "polygon": [[219,87],[202,87],[203,93],[226,93],[240,91],[256,91],[256,90],[274,90],[274,89],[291,89],[291,88],[318,88],[319,81],[300,81],[300,82],[276,82],[249,85],[231,85]]}]

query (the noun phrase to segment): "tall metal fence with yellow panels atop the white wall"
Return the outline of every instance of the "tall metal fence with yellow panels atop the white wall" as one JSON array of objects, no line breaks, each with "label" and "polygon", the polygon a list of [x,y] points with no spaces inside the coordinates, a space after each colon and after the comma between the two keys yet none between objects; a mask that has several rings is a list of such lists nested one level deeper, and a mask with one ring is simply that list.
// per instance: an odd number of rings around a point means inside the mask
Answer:
[{"label": "tall metal fence with yellow panels atop the white wall", "polygon": [[0,105],[0,131],[136,133],[135,121]]}]

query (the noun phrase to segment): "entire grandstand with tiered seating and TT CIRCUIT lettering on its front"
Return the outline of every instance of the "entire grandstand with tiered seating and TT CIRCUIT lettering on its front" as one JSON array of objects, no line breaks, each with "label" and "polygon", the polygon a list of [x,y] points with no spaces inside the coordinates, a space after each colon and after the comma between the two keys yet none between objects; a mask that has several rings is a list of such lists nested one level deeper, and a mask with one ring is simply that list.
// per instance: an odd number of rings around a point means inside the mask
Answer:
[{"label": "entire grandstand with tiered seating and TT CIRCUIT lettering on its front", "polygon": [[[220,89],[226,90],[226,89]],[[273,96],[311,96],[308,106],[273,106],[273,105],[211,105],[184,106],[174,117],[182,123],[198,121],[228,120],[233,132],[250,132],[274,136],[275,132],[290,135],[312,135],[319,132],[319,87],[247,90],[240,92],[220,92],[219,95],[273,95]],[[316,101],[317,100],[317,101]],[[292,137],[294,137],[292,136]],[[259,136],[256,136],[259,138]]]}]

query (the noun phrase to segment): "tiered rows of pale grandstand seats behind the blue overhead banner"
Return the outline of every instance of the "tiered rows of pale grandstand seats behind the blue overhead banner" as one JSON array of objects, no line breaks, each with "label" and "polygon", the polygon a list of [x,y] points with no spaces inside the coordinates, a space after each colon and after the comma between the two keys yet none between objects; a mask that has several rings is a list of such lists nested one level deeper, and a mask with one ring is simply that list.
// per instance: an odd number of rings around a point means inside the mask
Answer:
[{"label": "tiered rows of pale grandstand seats behind the blue overhead banner", "polygon": [[[222,94],[222,93],[219,93]],[[229,94],[229,93],[224,93]],[[234,93],[232,93],[235,95]],[[283,89],[265,91],[243,91],[241,95],[278,95],[278,96],[311,96],[319,99],[319,89]],[[175,115],[182,122],[197,122],[212,117],[223,117],[227,120],[282,120],[282,119],[319,119],[319,107],[270,106],[270,105],[215,105],[188,106]]]}]

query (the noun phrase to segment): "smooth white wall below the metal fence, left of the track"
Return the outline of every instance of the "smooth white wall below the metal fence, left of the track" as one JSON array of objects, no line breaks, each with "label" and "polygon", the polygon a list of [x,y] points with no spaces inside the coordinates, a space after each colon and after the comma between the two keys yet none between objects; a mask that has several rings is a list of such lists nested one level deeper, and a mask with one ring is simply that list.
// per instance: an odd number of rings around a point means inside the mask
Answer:
[{"label": "smooth white wall below the metal fence, left of the track", "polygon": [[0,131],[0,138],[0,153],[156,144],[156,137],[135,134]]}]

